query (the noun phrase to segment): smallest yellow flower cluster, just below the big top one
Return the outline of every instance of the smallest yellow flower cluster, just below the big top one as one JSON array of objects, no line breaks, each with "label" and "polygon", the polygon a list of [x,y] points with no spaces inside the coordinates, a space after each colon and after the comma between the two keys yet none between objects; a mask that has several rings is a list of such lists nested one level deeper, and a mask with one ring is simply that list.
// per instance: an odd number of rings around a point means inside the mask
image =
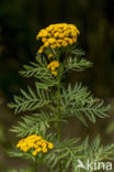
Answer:
[{"label": "smallest yellow flower cluster, just below the big top one", "polygon": [[52,69],[52,74],[53,75],[55,75],[55,76],[57,76],[57,72],[56,72],[56,68],[58,68],[59,67],[59,62],[58,61],[53,61],[53,62],[50,62],[48,65],[47,65],[47,68],[49,69]]}]

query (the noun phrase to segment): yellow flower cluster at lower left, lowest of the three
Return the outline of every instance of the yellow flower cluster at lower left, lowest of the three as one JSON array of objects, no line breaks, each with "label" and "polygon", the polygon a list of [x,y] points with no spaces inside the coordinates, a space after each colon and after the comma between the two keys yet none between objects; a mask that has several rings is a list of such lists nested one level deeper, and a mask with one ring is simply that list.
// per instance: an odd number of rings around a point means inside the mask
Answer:
[{"label": "yellow flower cluster at lower left, lowest of the three", "polygon": [[23,152],[32,150],[32,154],[36,155],[38,152],[46,153],[48,149],[54,148],[54,144],[37,135],[31,135],[27,138],[20,140],[16,148],[20,148]]}]

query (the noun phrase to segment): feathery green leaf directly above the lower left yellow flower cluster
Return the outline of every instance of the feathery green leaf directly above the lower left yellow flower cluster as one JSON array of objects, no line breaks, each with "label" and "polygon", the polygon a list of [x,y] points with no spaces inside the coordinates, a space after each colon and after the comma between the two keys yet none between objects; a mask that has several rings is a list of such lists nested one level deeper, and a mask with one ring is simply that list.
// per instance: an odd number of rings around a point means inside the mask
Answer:
[{"label": "feathery green leaf directly above the lower left yellow flower cluster", "polygon": [[[26,137],[27,135],[45,136],[52,122],[56,122],[57,118],[53,114],[41,111],[41,114],[33,114],[31,116],[22,117],[18,126],[13,126],[10,131],[15,132],[18,137]],[[60,120],[65,122],[64,119]]]}]

